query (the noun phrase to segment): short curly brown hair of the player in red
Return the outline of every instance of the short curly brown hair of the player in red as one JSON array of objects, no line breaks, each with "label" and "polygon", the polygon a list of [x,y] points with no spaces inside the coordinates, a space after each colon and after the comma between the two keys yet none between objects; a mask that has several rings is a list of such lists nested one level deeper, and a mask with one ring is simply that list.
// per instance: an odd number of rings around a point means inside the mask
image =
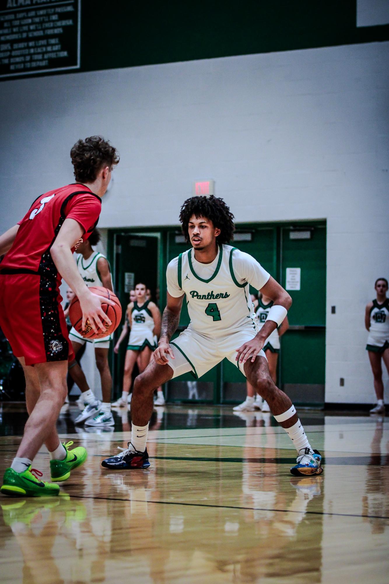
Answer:
[{"label": "short curly brown hair of the player in red", "polygon": [[93,182],[101,167],[118,164],[116,148],[101,136],[78,140],[70,151],[74,176],[77,182]]}]

